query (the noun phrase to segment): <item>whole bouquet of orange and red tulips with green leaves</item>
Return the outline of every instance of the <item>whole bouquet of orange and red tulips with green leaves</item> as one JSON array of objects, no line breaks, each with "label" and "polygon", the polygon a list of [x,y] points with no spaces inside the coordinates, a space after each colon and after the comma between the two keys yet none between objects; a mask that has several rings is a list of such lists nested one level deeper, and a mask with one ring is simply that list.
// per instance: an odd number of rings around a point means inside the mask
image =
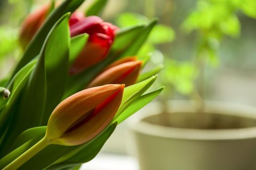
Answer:
[{"label": "whole bouquet of orange and red tulips with green leaves", "polygon": [[119,29],[97,17],[106,0],[85,15],[83,1],[52,1],[21,26],[24,51],[0,81],[0,169],[77,170],[163,89],[146,92],[157,72],[136,57],[157,19]]}]

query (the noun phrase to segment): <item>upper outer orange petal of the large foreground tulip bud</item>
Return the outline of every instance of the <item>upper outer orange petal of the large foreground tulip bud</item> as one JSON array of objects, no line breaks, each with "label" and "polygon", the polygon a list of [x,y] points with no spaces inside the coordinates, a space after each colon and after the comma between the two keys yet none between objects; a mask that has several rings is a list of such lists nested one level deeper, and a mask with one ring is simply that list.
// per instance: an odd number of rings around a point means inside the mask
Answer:
[{"label": "upper outer orange petal of the large foreground tulip bud", "polygon": [[123,85],[103,85],[85,89],[65,99],[49,118],[46,136],[54,139],[63,135],[75,122],[84,119],[88,112],[120,89],[123,89]]}]

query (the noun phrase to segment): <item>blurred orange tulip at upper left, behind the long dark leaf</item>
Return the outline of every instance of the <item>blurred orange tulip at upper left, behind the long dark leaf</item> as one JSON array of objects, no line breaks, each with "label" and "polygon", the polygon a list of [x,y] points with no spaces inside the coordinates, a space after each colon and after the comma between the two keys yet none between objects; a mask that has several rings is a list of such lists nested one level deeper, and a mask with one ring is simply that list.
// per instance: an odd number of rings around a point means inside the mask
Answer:
[{"label": "blurred orange tulip at upper left, behind the long dark leaf", "polygon": [[25,49],[33,38],[33,36],[37,33],[43,21],[47,17],[47,14],[50,10],[50,4],[46,4],[43,7],[39,8],[35,12],[29,14],[21,25],[20,31],[20,45],[23,49]]}]

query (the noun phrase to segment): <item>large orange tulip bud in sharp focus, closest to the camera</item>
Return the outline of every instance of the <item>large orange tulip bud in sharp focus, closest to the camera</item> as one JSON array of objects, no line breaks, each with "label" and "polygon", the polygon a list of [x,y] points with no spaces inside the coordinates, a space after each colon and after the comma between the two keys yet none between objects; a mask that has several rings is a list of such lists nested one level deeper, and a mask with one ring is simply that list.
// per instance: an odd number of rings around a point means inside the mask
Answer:
[{"label": "large orange tulip bud in sharp focus, closest to the camera", "polygon": [[49,118],[46,138],[74,146],[98,136],[114,118],[124,85],[103,85],[80,91],[61,102]]}]

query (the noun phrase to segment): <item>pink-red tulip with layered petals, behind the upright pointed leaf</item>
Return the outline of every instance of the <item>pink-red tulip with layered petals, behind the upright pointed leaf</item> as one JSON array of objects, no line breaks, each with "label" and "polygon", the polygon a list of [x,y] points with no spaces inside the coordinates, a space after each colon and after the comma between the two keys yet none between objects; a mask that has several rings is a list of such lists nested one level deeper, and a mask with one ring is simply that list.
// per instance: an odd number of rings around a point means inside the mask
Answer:
[{"label": "pink-red tulip with layered petals, behind the upright pointed leaf", "polygon": [[70,26],[71,36],[87,33],[89,40],[70,68],[70,74],[89,68],[103,60],[113,44],[115,31],[118,27],[104,22],[100,17],[90,16]]}]

